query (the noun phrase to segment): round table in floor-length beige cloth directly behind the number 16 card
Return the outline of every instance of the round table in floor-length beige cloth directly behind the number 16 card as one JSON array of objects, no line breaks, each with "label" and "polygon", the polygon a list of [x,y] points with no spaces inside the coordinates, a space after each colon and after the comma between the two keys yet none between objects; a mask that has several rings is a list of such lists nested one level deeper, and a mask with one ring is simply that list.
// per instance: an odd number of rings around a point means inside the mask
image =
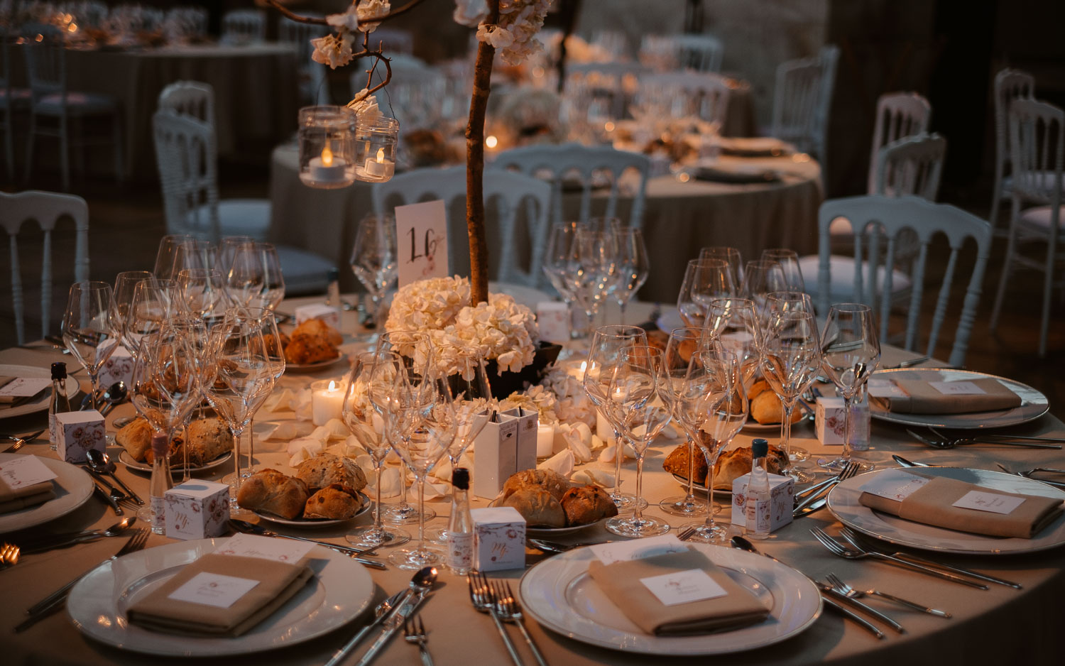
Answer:
[{"label": "round table in floor-length beige cloth directly behind the number 16 card", "polygon": [[[671,175],[648,181],[643,237],[651,274],[639,292],[642,300],[672,303],[684,279],[688,259],[699,248],[728,245],[744,260],[766,247],[791,247],[800,255],[817,251],[817,209],[823,199],[820,165],[808,156],[720,158],[723,168],[757,167],[775,170],[776,182],[736,184]],[[355,243],[355,225],[373,208],[372,183],[356,181],[342,190],[315,190],[299,180],[298,150],[283,144],[271,160],[269,238],[277,243],[309,249],[337,265],[347,265]],[[618,215],[627,220],[635,188],[623,180]],[[629,194],[626,194],[626,191]],[[602,214],[608,191],[592,194],[592,211]],[[563,214],[576,218],[580,195],[567,194]],[[464,242],[464,239],[463,239]],[[342,288],[354,289],[354,278],[342,272]]]}]

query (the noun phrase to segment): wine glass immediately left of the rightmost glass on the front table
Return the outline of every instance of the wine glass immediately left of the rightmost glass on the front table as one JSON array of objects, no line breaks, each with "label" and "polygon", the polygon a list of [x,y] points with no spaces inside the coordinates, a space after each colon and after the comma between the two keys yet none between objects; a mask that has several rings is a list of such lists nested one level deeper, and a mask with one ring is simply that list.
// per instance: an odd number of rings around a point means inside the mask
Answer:
[{"label": "wine glass immediately left of the rightmost glass on the front table", "polygon": [[[784,310],[773,315],[761,354],[761,375],[781,399],[784,408],[781,421],[781,445],[788,456],[788,467],[782,473],[797,483],[808,483],[813,476],[794,465],[800,458],[791,448],[791,412],[803,391],[821,369],[821,346],[817,321],[809,312]],[[808,452],[803,451],[806,456]]]}]

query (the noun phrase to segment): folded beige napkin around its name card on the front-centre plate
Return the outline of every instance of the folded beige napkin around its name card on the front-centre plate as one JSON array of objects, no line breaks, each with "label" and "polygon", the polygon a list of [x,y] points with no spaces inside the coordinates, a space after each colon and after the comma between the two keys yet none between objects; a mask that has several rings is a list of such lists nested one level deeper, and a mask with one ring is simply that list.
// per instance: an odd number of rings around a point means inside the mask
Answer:
[{"label": "folded beige napkin around its name card on the front-centre plate", "polygon": [[[702,569],[727,595],[668,606],[640,579],[672,571]],[[754,624],[769,615],[769,608],[750,591],[733,582],[703,553],[688,549],[679,553],[604,565],[593,559],[588,573],[625,617],[657,636],[686,636]]]}]

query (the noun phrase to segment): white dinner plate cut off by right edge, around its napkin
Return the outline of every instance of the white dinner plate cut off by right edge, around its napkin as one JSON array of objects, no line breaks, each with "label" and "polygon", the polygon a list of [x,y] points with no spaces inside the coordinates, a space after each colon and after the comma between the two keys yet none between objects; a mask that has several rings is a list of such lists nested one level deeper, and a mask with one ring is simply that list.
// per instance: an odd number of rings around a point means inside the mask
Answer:
[{"label": "white dinner plate cut off by right edge, around its napkin", "polygon": [[[945,553],[998,555],[1004,553],[1029,553],[1054,548],[1065,543],[1065,515],[1047,525],[1031,539],[1006,538],[969,534],[955,530],[945,530],[925,525],[898,516],[874,511],[858,502],[862,487],[876,474],[890,469],[876,470],[861,474],[840,483],[829,493],[829,510],[839,519],[839,522],[871,537],[882,539],[898,546],[908,546],[922,550]],[[1003,474],[990,470],[977,470],[961,467],[922,467],[921,474],[930,476],[946,476],[970,484],[984,486],[1005,492],[1019,492],[1045,498],[1065,500],[1065,492],[1046,484],[1015,474]]]}]

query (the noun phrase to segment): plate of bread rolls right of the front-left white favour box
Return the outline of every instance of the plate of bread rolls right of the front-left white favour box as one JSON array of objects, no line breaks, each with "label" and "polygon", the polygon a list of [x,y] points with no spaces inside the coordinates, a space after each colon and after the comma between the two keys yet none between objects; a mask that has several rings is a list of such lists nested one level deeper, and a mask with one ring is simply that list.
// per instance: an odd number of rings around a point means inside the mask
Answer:
[{"label": "plate of bread rolls right of the front-left white favour box", "polygon": [[370,510],[366,475],[355,460],[324,453],[304,460],[295,475],[262,469],[241,484],[236,503],[271,522],[321,527]]}]

